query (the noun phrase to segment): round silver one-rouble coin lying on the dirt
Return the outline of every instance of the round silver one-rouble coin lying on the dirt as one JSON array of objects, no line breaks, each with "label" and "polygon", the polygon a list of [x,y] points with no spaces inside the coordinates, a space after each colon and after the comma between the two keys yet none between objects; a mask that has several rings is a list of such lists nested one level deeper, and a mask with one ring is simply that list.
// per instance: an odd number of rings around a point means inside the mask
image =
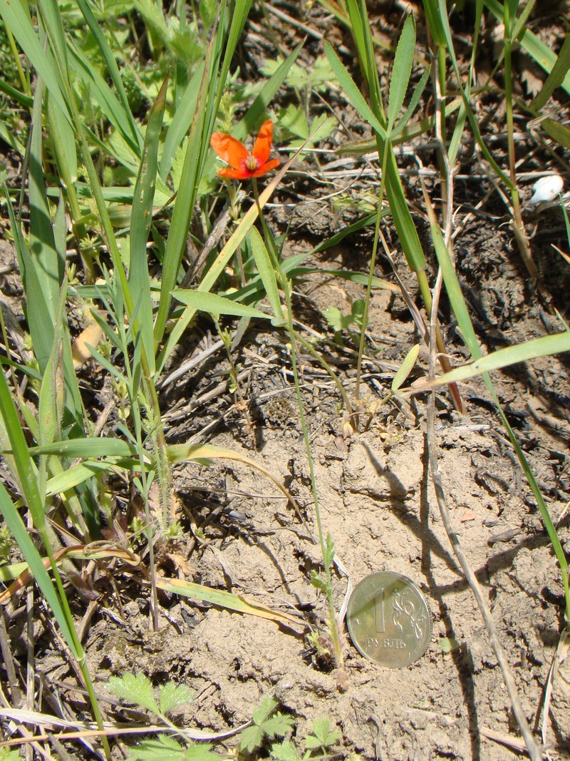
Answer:
[{"label": "round silver one-rouble coin lying on the dirt", "polygon": [[373,573],[354,587],[347,626],[356,649],[370,661],[404,668],[426,652],[432,616],[413,581],[390,571]]}]

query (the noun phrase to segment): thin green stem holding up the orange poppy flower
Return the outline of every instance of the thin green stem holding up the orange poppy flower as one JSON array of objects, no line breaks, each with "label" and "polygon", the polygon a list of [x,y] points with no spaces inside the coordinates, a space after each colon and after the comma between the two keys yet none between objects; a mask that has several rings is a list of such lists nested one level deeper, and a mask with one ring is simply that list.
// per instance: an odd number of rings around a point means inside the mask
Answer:
[{"label": "thin green stem holding up the orange poppy flower", "polygon": [[334,649],[334,658],[335,658],[337,667],[340,668],[343,665],[343,654],[342,654],[342,647],[340,645],[340,634],[338,631],[337,613],[334,608],[332,573],[331,573],[332,563],[326,561],[330,553],[327,551],[327,540],[322,528],[321,509],[319,508],[319,505],[318,505],[317,483],[315,479],[315,466],[312,459],[311,442],[309,441],[309,430],[306,424],[305,410],[302,404],[301,388],[299,385],[299,369],[297,368],[297,358],[296,358],[297,336],[296,336],[296,330],[293,327],[293,308],[291,305],[290,282],[287,279],[287,275],[285,275],[280,265],[279,257],[277,256],[277,251],[275,250],[274,237],[268,228],[267,222],[265,221],[263,210],[261,209],[261,205],[259,203],[258,185],[255,180],[255,177],[253,178],[253,193],[255,196],[255,204],[258,207],[258,214],[259,214],[259,219],[261,220],[261,227],[263,228],[263,232],[264,232],[264,239],[268,247],[269,256],[271,256],[271,263],[273,264],[275,272],[277,272],[277,276],[280,279],[281,288],[283,288],[283,295],[285,297],[285,306],[287,310],[287,330],[289,330],[289,336],[290,336],[290,342],[291,342],[291,365],[293,367],[293,378],[295,380],[295,391],[297,396],[297,404],[299,406],[299,418],[301,421],[302,435],[303,435],[303,439],[305,440],[307,460],[309,461],[309,474],[311,477],[311,492],[312,492],[313,504],[315,505],[315,517],[317,521],[318,541],[321,545],[321,554],[323,558],[323,565],[325,567],[325,582],[326,582],[325,594],[327,596],[327,603],[328,603],[328,633],[331,636],[331,642]]}]

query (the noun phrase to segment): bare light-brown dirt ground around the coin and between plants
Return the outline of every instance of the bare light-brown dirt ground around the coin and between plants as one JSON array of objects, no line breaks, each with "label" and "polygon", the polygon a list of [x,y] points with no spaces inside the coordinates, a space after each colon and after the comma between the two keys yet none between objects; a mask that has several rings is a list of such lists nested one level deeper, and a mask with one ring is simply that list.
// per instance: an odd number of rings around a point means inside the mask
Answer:
[{"label": "bare light-brown dirt ground around the coin and between plants", "polygon": [[[296,12],[316,32],[350,44],[339,27],[330,27],[331,21]],[[377,10],[378,32],[393,39],[400,18],[401,10],[395,6],[383,9],[382,14]],[[244,77],[261,56],[260,23],[252,21],[243,46]],[[550,33],[556,41],[556,29],[551,27]],[[283,47],[291,49],[296,33],[291,37],[287,27],[280,28],[280,35]],[[309,40],[304,65],[310,68],[318,54],[321,41]],[[484,106],[493,113],[498,103]],[[332,107],[344,123],[351,124],[353,135],[366,136],[345,103],[333,98]],[[328,147],[337,148],[346,139],[339,127]],[[532,173],[543,167],[541,162],[552,161],[531,144],[530,137],[525,139],[520,151],[521,157],[527,154],[527,161],[521,172]],[[501,148],[499,140],[496,148]],[[408,170],[410,202],[419,208],[421,193],[413,177],[412,170],[417,168],[413,157],[421,155],[423,166],[435,172],[435,156],[420,144],[408,146],[408,151],[401,167]],[[347,159],[346,166],[365,164]],[[319,177],[318,183],[311,180],[311,173]],[[329,197],[339,183],[347,186],[355,203],[365,182],[374,183],[365,178],[349,187],[352,180],[326,180],[326,164],[320,175],[315,167],[304,164],[274,199],[271,217],[277,231],[283,232],[292,219],[285,256],[310,250],[346,224],[346,217],[331,208]],[[539,282],[534,284],[504,224],[500,200],[491,194],[477,213],[467,216],[489,189],[477,156],[466,158],[456,188],[457,222],[463,225],[455,246],[458,275],[484,348],[490,352],[560,330],[555,309],[566,313],[570,282],[568,268],[550,244],[567,248],[561,215],[551,209],[528,218],[527,232],[533,236],[540,270]],[[437,198],[437,185],[432,196]],[[421,228],[424,222],[419,224]],[[397,240],[389,222],[385,232],[394,245],[398,271],[415,295],[413,279],[397,257]],[[372,233],[364,231],[310,261],[322,269],[366,272],[371,247]],[[375,274],[394,282],[388,260],[382,256]],[[363,295],[363,286],[312,275],[296,287],[296,318],[332,339],[321,310],[333,305],[349,313],[353,301]],[[446,309],[442,304],[446,342],[454,363],[459,364],[467,354]],[[216,340],[211,327],[199,323],[181,349],[180,363]],[[416,342],[420,339],[401,296],[375,289],[369,359],[364,365],[365,400],[372,404],[387,393],[394,372]],[[323,349],[349,396],[356,377],[353,349],[346,334],[344,345],[329,344]],[[235,350],[234,361],[242,371],[245,407],[226,388],[228,364],[223,352],[214,352],[161,392],[167,438],[230,447],[262,463],[296,498],[302,520],[271,482],[246,466],[181,467],[175,487],[185,533],[160,560],[161,568],[167,575],[247,594],[271,607],[297,610],[315,626],[322,625],[325,600],[309,581],[321,558],[312,540],[315,516],[287,337],[252,327]],[[325,530],[334,538],[337,556],[353,586],[372,572],[388,570],[406,575],[420,587],[432,612],[426,654],[404,670],[381,668],[353,648],[344,630],[345,660],[340,672],[298,632],[166,595],[160,600],[162,628],[152,633],[148,631],[147,589],[120,577],[113,588],[108,576],[100,573],[94,577],[100,597],[84,637],[97,689],[104,696],[103,683],[109,676],[136,670],[146,673],[154,684],[174,681],[194,689],[195,703],[183,723],[197,728],[236,727],[251,718],[264,693],[271,693],[280,709],[296,718],[298,737],[315,718],[330,717],[342,731],[341,754],[356,751],[387,761],[515,758],[515,747],[499,741],[502,737],[505,742],[520,742],[502,675],[435,500],[426,460],[425,398],[382,406],[368,430],[353,431],[349,438],[340,396],[329,375],[308,354],[302,354],[300,365]],[[176,363],[169,371],[174,369]],[[427,354],[422,349],[414,377],[426,369]],[[97,385],[97,368],[92,372]],[[568,357],[517,366],[497,373],[493,380],[568,551]],[[486,387],[473,380],[461,393],[467,407],[464,416],[454,411],[445,390],[437,396],[442,481],[458,537],[483,585],[515,673],[524,711],[539,731],[549,668],[564,626],[560,569]],[[95,406],[98,399],[95,391]],[[120,502],[118,508],[127,525],[136,505]],[[337,610],[347,588],[347,578],[335,575]],[[85,603],[77,598],[74,607],[79,621]],[[78,710],[83,698],[70,688],[74,676],[52,651],[49,635],[42,634],[48,631],[44,620],[37,632],[36,651],[43,678]],[[11,636],[18,642],[15,629]],[[16,651],[24,658],[24,635],[19,642]],[[546,721],[552,759],[570,758],[568,708],[570,659],[560,666]],[[120,715],[119,708],[116,711]]]}]

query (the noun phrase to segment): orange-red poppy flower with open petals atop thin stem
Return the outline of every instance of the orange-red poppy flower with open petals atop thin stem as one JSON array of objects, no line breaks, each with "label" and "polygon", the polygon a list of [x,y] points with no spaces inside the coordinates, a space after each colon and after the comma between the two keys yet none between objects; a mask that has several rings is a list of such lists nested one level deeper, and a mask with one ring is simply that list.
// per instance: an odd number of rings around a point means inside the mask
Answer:
[{"label": "orange-red poppy flower with open petals atop thin stem", "polygon": [[250,177],[263,177],[269,171],[278,167],[278,158],[268,161],[273,139],[273,122],[268,119],[261,125],[257,139],[250,153],[245,145],[226,132],[214,132],[210,145],[215,153],[230,167],[220,169],[220,177],[230,177],[232,180],[249,180]]}]

